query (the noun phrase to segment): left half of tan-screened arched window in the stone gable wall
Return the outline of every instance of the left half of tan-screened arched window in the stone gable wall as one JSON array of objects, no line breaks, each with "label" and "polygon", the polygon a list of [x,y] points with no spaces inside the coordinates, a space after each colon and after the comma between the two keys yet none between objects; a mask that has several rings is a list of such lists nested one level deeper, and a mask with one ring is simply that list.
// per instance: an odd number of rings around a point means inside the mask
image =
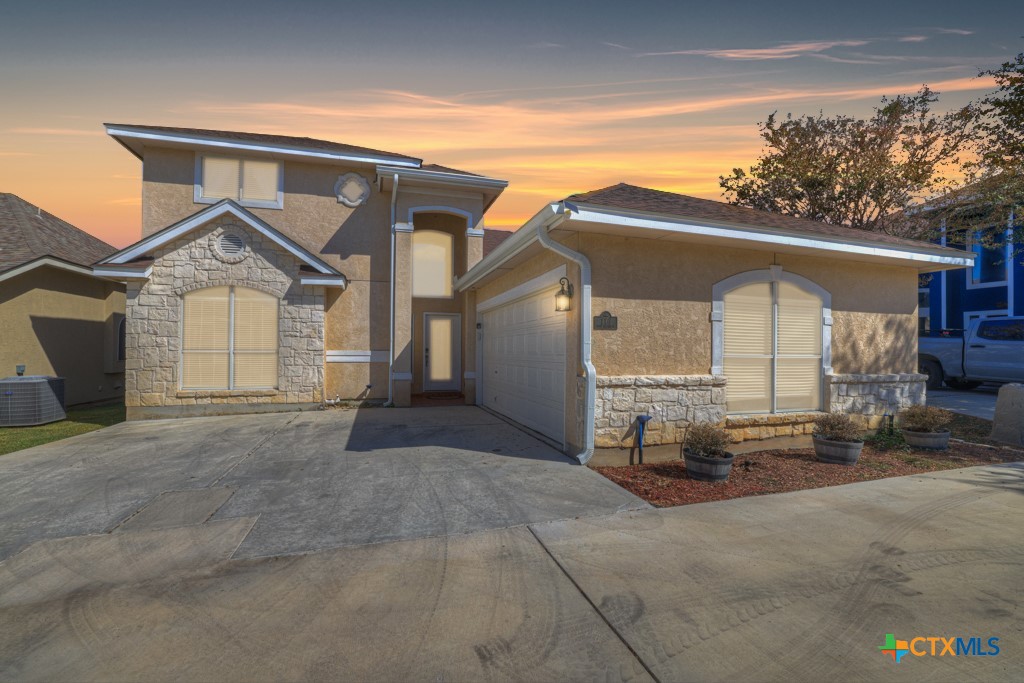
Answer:
[{"label": "left half of tan-screened arched window in the stone gable wall", "polygon": [[226,287],[211,287],[184,296],[181,386],[186,389],[227,387],[228,296]]}]

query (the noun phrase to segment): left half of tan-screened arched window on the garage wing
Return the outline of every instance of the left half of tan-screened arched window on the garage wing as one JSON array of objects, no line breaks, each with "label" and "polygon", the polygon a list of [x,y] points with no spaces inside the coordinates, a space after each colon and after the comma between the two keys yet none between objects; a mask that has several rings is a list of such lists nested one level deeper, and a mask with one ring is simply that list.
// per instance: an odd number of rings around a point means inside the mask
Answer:
[{"label": "left half of tan-screened arched window on the garage wing", "polygon": [[727,410],[768,412],[771,410],[771,283],[755,283],[728,292],[724,304]]}]

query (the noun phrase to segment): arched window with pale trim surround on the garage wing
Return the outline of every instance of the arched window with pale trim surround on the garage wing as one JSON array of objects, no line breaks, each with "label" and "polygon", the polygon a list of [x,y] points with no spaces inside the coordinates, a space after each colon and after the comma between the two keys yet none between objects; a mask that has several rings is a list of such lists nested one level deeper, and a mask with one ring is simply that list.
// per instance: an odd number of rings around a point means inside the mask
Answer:
[{"label": "arched window with pale trim surround on the garage wing", "polygon": [[727,412],[821,410],[831,372],[831,297],[779,266],[728,278],[713,294],[712,373],[725,375]]}]

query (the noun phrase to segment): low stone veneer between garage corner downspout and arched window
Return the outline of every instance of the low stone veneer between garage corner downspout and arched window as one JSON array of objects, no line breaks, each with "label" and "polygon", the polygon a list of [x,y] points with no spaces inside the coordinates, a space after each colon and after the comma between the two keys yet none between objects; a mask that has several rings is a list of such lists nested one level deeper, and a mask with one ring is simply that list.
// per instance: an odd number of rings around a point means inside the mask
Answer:
[{"label": "low stone veneer between garage corner downspout and arched window", "polygon": [[594,445],[632,444],[637,416],[650,415],[644,443],[678,443],[694,422],[725,418],[725,378],[713,375],[647,375],[597,378]]}]

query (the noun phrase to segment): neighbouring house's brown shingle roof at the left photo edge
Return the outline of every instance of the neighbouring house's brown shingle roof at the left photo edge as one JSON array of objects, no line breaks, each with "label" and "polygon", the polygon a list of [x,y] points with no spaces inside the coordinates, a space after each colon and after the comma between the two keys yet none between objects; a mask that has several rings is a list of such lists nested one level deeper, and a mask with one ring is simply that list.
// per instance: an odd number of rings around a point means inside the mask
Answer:
[{"label": "neighbouring house's brown shingle roof at the left photo edge", "polygon": [[0,193],[0,271],[43,256],[92,265],[116,251],[20,197]]}]

